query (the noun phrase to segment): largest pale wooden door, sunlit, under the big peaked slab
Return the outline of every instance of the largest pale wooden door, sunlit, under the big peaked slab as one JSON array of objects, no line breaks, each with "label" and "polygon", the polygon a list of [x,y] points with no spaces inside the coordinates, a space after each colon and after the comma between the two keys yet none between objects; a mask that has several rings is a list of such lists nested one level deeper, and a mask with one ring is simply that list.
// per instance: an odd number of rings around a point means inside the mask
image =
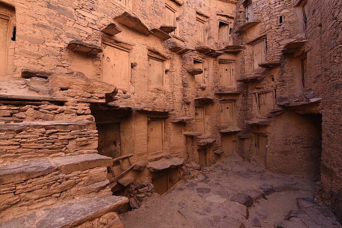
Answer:
[{"label": "largest pale wooden door, sunlit, under the big peaked slab", "polygon": [[101,73],[105,83],[128,88],[131,73],[129,51],[104,43]]}]

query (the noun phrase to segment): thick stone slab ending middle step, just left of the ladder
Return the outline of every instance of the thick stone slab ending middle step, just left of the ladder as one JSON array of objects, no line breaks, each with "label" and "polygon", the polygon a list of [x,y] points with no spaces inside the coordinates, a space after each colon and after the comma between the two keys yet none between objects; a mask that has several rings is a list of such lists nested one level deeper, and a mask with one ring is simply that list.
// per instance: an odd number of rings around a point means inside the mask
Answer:
[{"label": "thick stone slab ending middle step, just left of the ladder", "polygon": [[64,156],[52,159],[52,162],[65,174],[94,167],[113,165],[113,159],[100,154]]}]

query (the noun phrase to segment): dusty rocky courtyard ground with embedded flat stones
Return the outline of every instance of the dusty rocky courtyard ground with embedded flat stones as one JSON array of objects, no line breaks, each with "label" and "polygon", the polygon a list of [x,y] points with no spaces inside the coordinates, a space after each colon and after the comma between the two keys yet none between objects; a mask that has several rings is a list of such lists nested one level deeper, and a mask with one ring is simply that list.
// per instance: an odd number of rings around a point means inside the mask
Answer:
[{"label": "dusty rocky courtyard ground with embedded flat stones", "polygon": [[121,214],[124,227],[342,227],[313,200],[313,181],[267,172],[238,156],[202,170]]}]

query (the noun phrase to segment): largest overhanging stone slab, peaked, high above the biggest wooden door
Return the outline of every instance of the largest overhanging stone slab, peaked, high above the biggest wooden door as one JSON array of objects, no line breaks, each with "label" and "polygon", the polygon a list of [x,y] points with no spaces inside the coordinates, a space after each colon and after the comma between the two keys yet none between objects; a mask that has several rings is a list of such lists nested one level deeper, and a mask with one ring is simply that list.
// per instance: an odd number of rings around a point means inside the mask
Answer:
[{"label": "largest overhanging stone slab, peaked, high above the biggest wooden door", "polygon": [[152,31],[150,31],[144,23],[140,21],[139,18],[132,16],[127,12],[123,12],[121,15],[113,18],[115,21],[119,22],[122,25],[125,25],[139,33],[142,33],[146,36],[151,35]]}]

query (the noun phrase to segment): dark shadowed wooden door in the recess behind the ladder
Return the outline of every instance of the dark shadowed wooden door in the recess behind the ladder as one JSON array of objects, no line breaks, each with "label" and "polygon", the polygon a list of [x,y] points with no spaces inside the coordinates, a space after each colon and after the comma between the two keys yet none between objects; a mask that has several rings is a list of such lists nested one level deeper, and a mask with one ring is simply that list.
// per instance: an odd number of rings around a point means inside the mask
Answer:
[{"label": "dark shadowed wooden door in the recess behind the ladder", "polygon": [[98,131],[98,153],[113,159],[120,157],[120,123],[96,124],[96,128]]}]

